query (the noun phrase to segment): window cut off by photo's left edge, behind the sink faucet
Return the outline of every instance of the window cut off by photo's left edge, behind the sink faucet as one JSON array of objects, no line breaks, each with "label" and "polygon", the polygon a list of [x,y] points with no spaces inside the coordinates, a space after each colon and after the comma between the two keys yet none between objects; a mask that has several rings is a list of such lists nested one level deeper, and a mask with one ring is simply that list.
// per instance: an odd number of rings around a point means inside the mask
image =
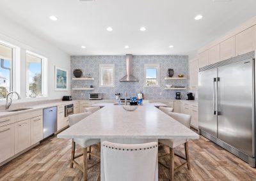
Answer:
[{"label": "window cut off by photo's left edge, behind the sink faucet", "polygon": [[0,99],[13,91],[13,48],[0,44]]}]

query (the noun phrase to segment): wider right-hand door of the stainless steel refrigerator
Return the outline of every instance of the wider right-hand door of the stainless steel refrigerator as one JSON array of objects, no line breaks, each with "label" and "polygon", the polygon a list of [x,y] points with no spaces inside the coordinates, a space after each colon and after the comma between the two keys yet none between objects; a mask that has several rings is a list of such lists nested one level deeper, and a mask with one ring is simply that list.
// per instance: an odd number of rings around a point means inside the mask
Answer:
[{"label": "wider right-hand door of the stainless steel refrigerator", "polygon": [[254,157],[254,61],[218,68],[218,138]]}]

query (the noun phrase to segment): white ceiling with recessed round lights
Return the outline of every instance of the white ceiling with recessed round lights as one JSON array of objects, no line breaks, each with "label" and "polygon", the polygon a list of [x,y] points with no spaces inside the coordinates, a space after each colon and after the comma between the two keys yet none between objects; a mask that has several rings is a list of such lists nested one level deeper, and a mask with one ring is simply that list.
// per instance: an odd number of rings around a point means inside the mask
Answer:
[{"label": "white ceiling with recessed round lights", "polygon": [[186,55],[255,17],[255,7],[255,0],[0,0],[3,16],[70,55]]}]

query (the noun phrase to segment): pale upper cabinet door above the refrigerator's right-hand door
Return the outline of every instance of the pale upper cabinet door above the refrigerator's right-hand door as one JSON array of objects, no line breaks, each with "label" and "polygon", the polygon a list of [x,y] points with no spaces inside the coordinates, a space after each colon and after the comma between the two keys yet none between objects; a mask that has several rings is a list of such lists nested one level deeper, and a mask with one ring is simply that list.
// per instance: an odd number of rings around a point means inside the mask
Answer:
[{"label": "pale upper cabinet door above the refrigerator's right-hand door", "polygon": [[253,27],[236,34],[236,55],[253,51]]}]

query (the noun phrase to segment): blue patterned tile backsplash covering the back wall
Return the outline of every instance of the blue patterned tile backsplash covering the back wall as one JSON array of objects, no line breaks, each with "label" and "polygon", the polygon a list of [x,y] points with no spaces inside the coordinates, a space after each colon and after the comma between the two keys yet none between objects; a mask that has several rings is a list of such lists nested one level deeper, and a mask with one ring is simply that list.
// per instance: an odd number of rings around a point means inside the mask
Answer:
[{"label": "blue patterned tile backsplash covering the back wall", "polygon": [[[115,64],[115,87],[99,87],[99,64]],[[159,64],[160,78],[159,87],[144,87],[144,64]],[[115,99],[115,93],[120,93],[124,98],[125,91],[128,98],[137,96],[143,92],[145,99],[175,99],[175,92],[182,93],[182,99],[186,99],[187,90],[164,90],[166,84],[174,86],[188,87],[188,80],[164,80],[167,76],[168,68],[174,69],[174,75],[179,73],[188,77],[188,56],[187,55],[132,55],[132,72],[139,78],[139,82],[119,82],[120,78],[125,76],[125,55],[86,55],[71,56],[70,75],[74,77],[74,69],[82,69],[87,74],[91,73],[94,80],[72,80],[71,88],[93,85],[93,91],[72,91],[74,99],[88,99],[89,94],[93,92],[102,92],[104,99]]]}]

